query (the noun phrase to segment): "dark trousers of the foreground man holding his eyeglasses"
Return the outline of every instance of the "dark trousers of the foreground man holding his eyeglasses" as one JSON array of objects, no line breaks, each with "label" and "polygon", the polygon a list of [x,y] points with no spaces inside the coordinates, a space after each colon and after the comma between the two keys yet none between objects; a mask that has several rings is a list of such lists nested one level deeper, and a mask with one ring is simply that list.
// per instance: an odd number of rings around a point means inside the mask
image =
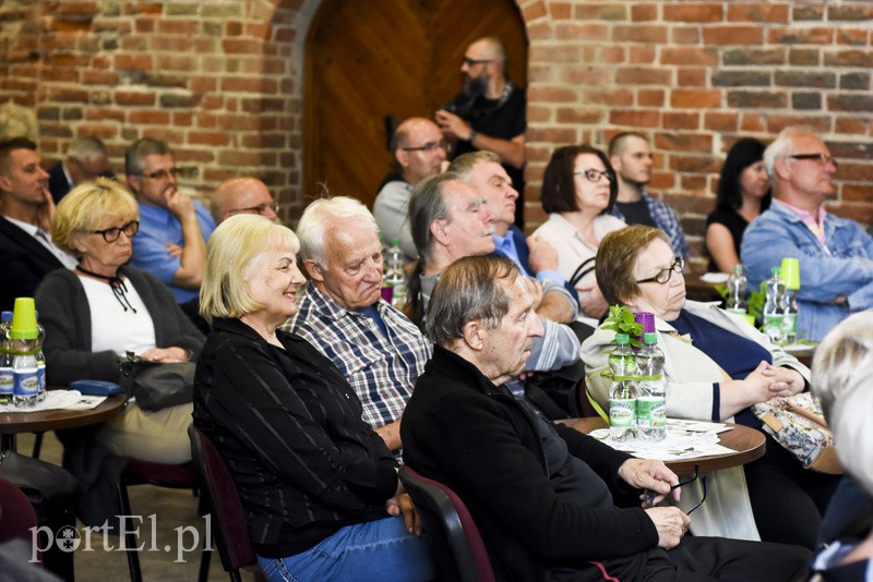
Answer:
[{"label": "dark trousers of the foreground man holding his eyeglasses", "polygon": [[[641,559],[641,557],[643,559]],[[684,537],[670,550],[590,562],[550,572],[552,582],[794,582],[805,580],[812,553],[800,546],[723,537]],[[609,577],[603,575],[606,573]]]}]

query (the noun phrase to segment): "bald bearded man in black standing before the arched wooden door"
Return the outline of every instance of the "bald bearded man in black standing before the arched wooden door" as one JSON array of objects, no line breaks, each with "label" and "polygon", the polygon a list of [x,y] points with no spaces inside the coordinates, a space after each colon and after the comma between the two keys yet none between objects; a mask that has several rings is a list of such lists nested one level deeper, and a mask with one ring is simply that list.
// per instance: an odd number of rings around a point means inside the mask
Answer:
[{"label": "bald bearded man in black standing before the arched wooden door", "polygon": [[506,76],[506,50],[492,36],[467,47],[461,73],[464,90],[444,109],[436,111],[436,123],[454,144],[451,159],[485,149],[500,157],[518,192],[515,223],[524,226],[525,132],[527,98]]}]

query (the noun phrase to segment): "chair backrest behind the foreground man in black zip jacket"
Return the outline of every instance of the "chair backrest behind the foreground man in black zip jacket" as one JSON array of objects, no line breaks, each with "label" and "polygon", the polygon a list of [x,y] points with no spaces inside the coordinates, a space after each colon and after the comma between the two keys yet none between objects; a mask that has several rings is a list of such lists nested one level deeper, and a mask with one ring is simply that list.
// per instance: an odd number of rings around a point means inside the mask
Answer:
[{"label": "chair backrest behind the foreground man in black zip jacket", "polygon": [[414,469],[400,469],[400,482],[412,498],[443,579],[461,582],[493,582],[491,560],[467,506],[446,485],[427,478]]}]

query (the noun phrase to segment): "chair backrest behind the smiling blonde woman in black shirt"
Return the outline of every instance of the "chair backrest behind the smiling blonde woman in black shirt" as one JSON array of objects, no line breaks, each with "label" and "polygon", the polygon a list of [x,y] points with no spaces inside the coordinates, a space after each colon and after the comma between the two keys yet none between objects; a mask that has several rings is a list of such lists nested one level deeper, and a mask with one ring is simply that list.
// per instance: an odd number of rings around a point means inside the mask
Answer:
[{"label": "chair backrest behind the smiling blonde woman in black shirt", "polygon": [[227,572],[236,572],[258,561],[237,487],[212,440],[193,424],[188,427],[188,436],[200,487],[212,511],[213,538],[222,566]]}]

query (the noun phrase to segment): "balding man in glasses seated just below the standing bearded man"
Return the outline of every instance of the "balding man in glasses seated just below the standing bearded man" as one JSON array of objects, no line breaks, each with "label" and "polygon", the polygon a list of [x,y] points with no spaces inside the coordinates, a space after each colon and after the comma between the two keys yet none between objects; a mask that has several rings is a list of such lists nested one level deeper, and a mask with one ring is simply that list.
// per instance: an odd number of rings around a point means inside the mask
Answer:
[{"label": "balding man in glasses seated just below the standing bearded man", "polygon": [[442,171],[445,162],[445,141],[440,128],[424,118],[409,118],[397,125],[391,140],[396,172],[390,173],[373,204],[373,216],[382,233],[382,242],[400,240],[406,260],[416,257],[416,245],[406,220],[409,193],[429,175]]}]

